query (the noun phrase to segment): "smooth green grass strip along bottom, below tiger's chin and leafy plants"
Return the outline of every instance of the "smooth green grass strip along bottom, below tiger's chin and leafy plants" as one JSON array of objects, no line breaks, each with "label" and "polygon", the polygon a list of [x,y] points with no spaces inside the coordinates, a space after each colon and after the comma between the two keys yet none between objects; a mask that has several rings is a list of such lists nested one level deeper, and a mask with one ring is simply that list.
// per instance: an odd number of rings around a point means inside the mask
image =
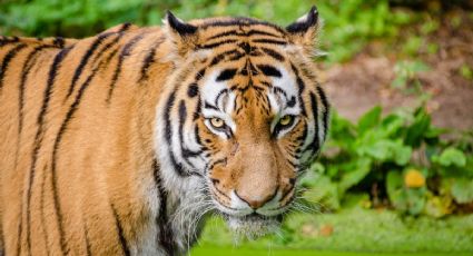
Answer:
[{"label": "smooth green grass strip along bottom, below tiger's chin and leafy plants", "polygon": [[207,224],[191,255],[473,255],[473,215],[400,217],[390,210],[293,214],[278,235],[235,246],[221,219]]}]

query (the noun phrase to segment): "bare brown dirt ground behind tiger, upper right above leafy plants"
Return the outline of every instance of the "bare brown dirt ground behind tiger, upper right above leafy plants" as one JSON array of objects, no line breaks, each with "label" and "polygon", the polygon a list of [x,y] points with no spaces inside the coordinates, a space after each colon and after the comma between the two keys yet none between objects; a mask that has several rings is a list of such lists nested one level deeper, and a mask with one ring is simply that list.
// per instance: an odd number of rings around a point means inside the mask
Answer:
[{"label": "bare brown dirt ground behind tiger, upper right above leafy plants", "polygon": [[[417,76],[422,90],[432,95],[427,109],[433,122],[441,127],[473,129],[473,81],[461,75],[462,67],[473,68],[473,22],[452,28],[442,23],[427,40],[438,46],[434,55],[420,52],[416,59],[430,66]],[[396,52],[376,55],[368,46],[349,62],[336,65],[322,73],[334,109],[348,119],[356,120],[375,105],[385,111],[397,107],[415,107],[418,93],[406,93],[393,88]]]}]

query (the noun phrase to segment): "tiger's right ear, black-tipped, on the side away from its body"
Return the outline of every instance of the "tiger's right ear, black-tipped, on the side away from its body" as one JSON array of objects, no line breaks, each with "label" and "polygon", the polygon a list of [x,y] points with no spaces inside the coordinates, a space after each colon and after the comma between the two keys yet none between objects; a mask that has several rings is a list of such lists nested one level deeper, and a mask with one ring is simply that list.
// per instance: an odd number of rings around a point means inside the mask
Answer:
[{"label": "tiger's right ear, black-tipped, on the side away from its body", "polygon": [[313,51],[318,27],[318,11],[313,6],[308,13],[287,26],[286,31],[295,43],[302,45],[305,49]]}]

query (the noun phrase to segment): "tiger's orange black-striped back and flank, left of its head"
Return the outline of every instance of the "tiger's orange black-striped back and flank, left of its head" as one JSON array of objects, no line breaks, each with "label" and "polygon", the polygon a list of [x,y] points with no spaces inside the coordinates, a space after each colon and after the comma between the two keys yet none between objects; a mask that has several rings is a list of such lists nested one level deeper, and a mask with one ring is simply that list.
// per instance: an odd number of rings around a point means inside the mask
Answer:
[{"label": "tiger's orange black-striped back and flank, left of its head", "polygon": [[[128,57],[151,45],[152,55],[165,51],[158,49],[160,29],[149,31],[122,24],[82,40],[1,39],[0,207],[7,255],[115,255],[136,248],[125,242],[124,234],[134,232],[121,226],[120,216],[145,221],[145,206],[157,204],[136,196],[149,193],[140,190],[149,187],[144,183],[154,183],[154,155],[146,150],[151,141],[132,136],[136,129],[151,134],[154,118],[131,124],[137,112],[152,117],[159,89],[129,86],[149,80],[155,59],[145,51]],[[125,65],[140,70],[124,71]],[[155,68],[162,72],[152,76],[160,85],[167,67]],[[130,141],[142,154],[130,155],[125,147]],[[124,168],[141,173],[130,177]],[[136,210],[122,213],[129,206]],[[91,245],[93,239],[102,243]]]}]

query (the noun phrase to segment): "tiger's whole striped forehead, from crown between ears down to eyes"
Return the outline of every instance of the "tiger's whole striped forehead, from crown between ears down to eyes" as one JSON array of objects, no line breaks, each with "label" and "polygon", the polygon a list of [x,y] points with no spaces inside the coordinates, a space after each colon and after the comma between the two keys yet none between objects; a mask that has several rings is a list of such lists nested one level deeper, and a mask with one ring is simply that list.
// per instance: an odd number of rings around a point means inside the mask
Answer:
[{"label": "tiger's whole striped forehead, from crown between ears down to eyes", "polygon": [[297,115],[299,90],[285,30],[248,18],[193,23],[198,27],[195,50],[204,57],[195,78],[205,116],[260,111],[273,117],[283,110]]}]

